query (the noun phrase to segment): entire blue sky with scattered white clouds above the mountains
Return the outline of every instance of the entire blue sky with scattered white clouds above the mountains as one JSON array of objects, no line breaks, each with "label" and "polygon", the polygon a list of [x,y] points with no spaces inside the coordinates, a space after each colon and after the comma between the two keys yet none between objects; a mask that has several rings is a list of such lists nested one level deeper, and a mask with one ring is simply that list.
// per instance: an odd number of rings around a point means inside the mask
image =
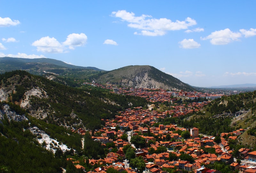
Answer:
[{"label": "entire blue sky with scattered white clouds above the mountains", "polygon": [[192,86],[256,83],[256,1],[0,1],[0,57],[114,70],[151,65]]}]

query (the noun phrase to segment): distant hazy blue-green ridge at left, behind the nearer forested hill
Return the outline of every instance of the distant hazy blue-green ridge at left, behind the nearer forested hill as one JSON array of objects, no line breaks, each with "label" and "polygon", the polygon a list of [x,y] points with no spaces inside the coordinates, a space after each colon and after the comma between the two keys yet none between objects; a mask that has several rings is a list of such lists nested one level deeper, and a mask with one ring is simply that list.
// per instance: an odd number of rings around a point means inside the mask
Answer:
[{"label": "distant hazy blue-green ridge at left, behind the nearer forested hill", "polygon": [[78,86],[76,81],[90,80],[91,76],[104,71],[96,67],[76,66],[50,58],[0,57],[0,73],[14,70],[25,70],[73,87]]}]

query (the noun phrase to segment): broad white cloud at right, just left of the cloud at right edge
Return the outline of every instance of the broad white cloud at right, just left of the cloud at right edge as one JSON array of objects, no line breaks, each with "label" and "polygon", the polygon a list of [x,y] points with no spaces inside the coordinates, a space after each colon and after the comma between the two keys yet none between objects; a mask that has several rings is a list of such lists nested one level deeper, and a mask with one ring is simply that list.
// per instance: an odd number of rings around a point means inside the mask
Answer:
[{"label": "broad white cloud at right, just left of the cloud at right edge", "polygon": [[226,28],[224,30],[212,32],[207,37],[201,38],[202,40],[210,39],[210,42],[214,45],[225,45],[231,41],[238,41],[242,36],[241,33],[232,32],[230,29]]}]

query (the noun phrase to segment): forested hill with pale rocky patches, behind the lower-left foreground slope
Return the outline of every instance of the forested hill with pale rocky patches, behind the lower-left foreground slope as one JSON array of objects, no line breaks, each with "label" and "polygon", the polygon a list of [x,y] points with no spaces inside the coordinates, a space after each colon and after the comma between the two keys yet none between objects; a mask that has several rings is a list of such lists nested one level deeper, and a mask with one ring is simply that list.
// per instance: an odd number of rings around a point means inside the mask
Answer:
[{"label": "forested hill with pale rocky patches, behind the lower-left foreground slope", "polygon": [[119,110],[144,106],[145,99],[108,93],[100,88],[78,89],[26,71],[0,75],[0,101],[20,106],[37,119],[63,126],[100,127],[100,119]]}]

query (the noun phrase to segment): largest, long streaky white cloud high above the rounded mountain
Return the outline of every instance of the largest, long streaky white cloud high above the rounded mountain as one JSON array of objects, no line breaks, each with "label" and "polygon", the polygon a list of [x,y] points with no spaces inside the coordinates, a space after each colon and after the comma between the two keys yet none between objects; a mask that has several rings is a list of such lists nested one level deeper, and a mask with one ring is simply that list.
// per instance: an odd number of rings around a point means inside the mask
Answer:
[{"label": "largest, long streaky white cloud high above the rounded mountain", "polygon": [[134,34],[147,36],[164,35],[166,31],[188,29],[189,26],[196,25],[196,20],[189,17],[184,21],[176,20],[172,22],[170,19],[154,19],[152,16],[144,14],[136,17],[133,12],[127,12],[125,10],[113,11],[111,15],[128,22],[129,27],[141,30],[141,33],[135,32]]}]

